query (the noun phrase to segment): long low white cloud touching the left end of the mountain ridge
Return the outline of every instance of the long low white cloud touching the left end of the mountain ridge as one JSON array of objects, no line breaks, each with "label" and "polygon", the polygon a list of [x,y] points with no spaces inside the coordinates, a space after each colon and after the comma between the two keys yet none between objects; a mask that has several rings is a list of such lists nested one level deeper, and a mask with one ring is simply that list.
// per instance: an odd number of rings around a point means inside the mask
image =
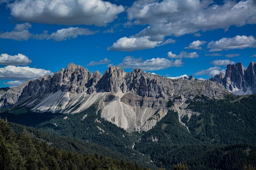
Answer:
[{"label": "long low white cloud touching the left end of the mountain ridge", "polygon": [[28,80],[36,79],[43,75],[52,75],[49,70],[30,68],[29,66],[5,66],[0,68],[0,79]]}]

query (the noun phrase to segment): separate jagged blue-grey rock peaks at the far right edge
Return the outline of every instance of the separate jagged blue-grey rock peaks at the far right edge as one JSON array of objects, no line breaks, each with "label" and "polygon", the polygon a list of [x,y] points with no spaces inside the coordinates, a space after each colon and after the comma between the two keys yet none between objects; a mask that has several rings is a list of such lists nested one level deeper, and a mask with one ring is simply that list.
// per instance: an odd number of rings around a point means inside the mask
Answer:
[{"label": "separate jagged blue-grey rock peaks at the far right edge", "polygon": [[235,95],[256,93],[256,64],[251,62],[247,69],[241,63],[227,65],[226,74],[220,73],[210,80],[222,84]]}]

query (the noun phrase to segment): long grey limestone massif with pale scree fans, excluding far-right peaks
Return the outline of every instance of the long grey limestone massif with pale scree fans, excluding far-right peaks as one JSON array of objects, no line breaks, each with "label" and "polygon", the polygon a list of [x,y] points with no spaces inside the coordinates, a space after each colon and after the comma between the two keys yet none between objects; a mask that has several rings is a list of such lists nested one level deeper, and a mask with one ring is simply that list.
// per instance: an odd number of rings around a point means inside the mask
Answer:
[{"label": "long grey limestone massif with pale scree fans, excluding far-right peaks", "polygon": [[120,66],[101,75],[71,63],[54,75],[1,90],[0,107],[73,114],[97,104],[101,117],[132,132],[153,128],[167,114],[169,100],[184,103],[197,95],[221,99],[226,94],[229,92],[222,85],[210,80],[173,80],[138,68],[126,73]]}]

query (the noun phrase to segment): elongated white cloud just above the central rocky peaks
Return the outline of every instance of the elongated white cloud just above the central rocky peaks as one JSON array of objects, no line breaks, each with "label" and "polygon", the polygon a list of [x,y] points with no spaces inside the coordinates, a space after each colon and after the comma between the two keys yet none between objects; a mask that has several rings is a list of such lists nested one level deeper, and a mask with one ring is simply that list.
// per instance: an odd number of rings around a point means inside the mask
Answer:
[{"label": "elongated white cloud just above the central rocky peaks", "polygon": [[181,59],[168,60],[166,58],[152,58],[149,60],[142,60],[142,58],[127,56],[119,65],[121,68],[141,68],[143,71],[153,71],[169,67],[179,67],[183,65],[183,62]]}]

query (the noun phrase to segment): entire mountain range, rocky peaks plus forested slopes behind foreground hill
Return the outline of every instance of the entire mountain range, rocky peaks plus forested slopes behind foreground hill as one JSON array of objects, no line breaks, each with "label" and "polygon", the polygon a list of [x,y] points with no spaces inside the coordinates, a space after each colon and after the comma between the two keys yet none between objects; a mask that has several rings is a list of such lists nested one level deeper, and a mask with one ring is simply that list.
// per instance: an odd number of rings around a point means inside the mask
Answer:
[{"label": "entire mountain range, rocky peaks plus forested slopes behind foreground hill", "polygon": [[238,91],[254,93],[254,62],[247,69],[228,65],[226,75],[207,80],[138,68],[126,73],[120,66],[102,75],[70,63],[54,75],[1,88],[0,117],[16,123],[17,133],[27,129],[80,154],[153,169],[186,162],[192,170],[240,170],[256,165],[256,95],[231,93]]}]

